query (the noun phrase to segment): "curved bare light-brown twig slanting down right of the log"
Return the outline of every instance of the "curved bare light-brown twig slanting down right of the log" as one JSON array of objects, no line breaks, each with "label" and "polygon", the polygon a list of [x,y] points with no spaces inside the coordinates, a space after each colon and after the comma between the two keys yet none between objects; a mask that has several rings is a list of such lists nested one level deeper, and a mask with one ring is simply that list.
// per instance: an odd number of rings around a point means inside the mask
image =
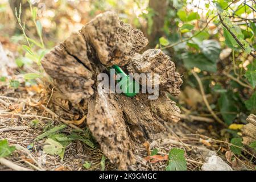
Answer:
[{"label": "curved bare light-brown twig slanting down right of the log", "polygon": [[204,100],[204,103],[205,105],[207,106],[207,109],[209,110],[210,114],[212,114],[213,118],[216,119],[216,121],[218,123],[220,123],[221,125],[224,125],[225,127],[227,127],[227,125],[220,119],[218,118],[218,116],[214,113],[214,111],[212,110],[212,108],[210,107],[209,105],[209,102],[207,100],[207,97],[205,96],[205,93],[204,93],[204,87],[203,87],[203,84],[199,78],[199,76],[196,74],[196,72],[194,72],[193,70],[191,71],[193,76],[195,76],[198,84],[199,84],[199,88],[200,88],[200,91],[201,91],[201,94],[202,94],[202,97],[203,97],[203,100]]}]

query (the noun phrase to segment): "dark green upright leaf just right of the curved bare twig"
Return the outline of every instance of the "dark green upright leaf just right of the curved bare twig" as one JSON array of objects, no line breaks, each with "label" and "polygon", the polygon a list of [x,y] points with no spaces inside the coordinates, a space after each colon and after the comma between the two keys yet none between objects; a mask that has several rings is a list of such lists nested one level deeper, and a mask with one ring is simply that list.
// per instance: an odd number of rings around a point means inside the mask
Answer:
[{"label": "dark green upright leaf just right of the curved bare twig", "polygon": [[218,98],[218,107],[220,107],[220,113],[225,123],[231,125],[237,117],[238,110],[230,91],[227,93],[221,93],[221,97]]}]

